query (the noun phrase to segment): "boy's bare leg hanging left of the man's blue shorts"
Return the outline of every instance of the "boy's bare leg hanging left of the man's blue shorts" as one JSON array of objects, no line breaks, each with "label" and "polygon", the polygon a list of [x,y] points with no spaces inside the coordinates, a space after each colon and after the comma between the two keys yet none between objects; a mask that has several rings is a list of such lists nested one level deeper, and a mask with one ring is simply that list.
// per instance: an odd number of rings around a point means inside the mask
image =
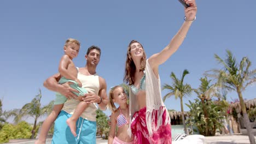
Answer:
[{"label": "boy's bare leg hanging left of the man's blue shorts", "polygon": [[51,125],[53,125],[57,116],[59,115],[62,107],[63,107],[63,104],[54,105],[53,111],[50,113],[50,115],[43,122],[43,125],[42,125],[41,130],[40,130],[39,138],[35,142],[35,144],[45,144],[46,136],[48,134],[48,131],[49,131]]}]

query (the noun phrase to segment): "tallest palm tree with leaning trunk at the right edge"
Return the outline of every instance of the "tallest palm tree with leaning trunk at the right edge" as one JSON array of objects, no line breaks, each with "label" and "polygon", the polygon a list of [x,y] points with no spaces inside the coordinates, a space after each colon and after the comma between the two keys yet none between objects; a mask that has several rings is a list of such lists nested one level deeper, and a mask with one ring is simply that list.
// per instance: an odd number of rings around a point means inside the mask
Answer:
[{"label": "tallest palm tree with leaning trunk at the right edge", "polygon": [[246,124],[250,143],[255,144],[252,127],[249,124],[249,118],[246,112],[246,105],[243,100],[242,92],[245,91],[247,86],[256,82],[256,69],[249,70],[251,67],[251,61],[249,61],[247,57],[243,57],[240,64],[237,64],[231,51],[226,50],[226,53],[227,57],[225,61],[218,55],[214,55],[216,60],[224,66],[224,69],[213,69],[210,70],[213,74],[206,73],[206,75],[217,78],[219,86],[229,91],[237,92],[243,113],[243,121]]}]

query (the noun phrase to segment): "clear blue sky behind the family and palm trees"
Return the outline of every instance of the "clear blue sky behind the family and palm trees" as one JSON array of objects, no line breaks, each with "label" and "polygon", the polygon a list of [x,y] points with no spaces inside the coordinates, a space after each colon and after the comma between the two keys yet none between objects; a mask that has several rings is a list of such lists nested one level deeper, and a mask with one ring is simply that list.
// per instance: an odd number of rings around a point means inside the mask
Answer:
[{"label": "clear blue sky behind the family and palm trees", "polygon": [[[256,1],[197,1],[197,19],[184,43],[165,64],[159,67],[162,85],[171,84],[173,71],[185,82],[200,85],[206,70],[220,68],[214,53],[225,57],[231,50],[240,61],[247,56],[255,69]],[[21,108],[42,89],[42,104],[54,100],[54,92],[43,81],[57,73],[68,38],[78,39],[81,48],[74,59],[84,67],[84,55],[91,45],[102,49],[97,73],[106,79],[108,89],[123,82],[127,45],[140,41],[147,57],[160,52],[183,23],[183,6],[174,1],[1,1],[0,5],[0,99],[3,109]],[[167,91],[162,91],[165,95]],[[255,85],[243,92],[255,98]],[[185,98],[184,103],[196,95]],[[237,99],[229,93],[228,99]],[[167,99],[168,109],[181,110],[179,100]],[[188,110],[184,106],[184,110]],[[106,112],[109,114],[109,112]]]}]

